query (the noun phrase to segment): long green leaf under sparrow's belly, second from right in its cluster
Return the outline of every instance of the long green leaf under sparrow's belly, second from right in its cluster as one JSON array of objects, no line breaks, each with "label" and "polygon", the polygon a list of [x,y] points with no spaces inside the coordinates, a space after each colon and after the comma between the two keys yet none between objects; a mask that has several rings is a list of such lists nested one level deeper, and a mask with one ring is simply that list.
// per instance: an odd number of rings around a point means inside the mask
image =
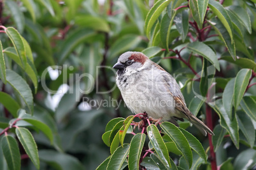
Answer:
[{"label": "long green leaf under sparrow's belly, second from right in its cluster", "polygon": [[162,122],[160,124],[164,132],[174,141],[177,148],[182,152],[189,167],[192,166],[192,152],[184,134],[171,122]]}]

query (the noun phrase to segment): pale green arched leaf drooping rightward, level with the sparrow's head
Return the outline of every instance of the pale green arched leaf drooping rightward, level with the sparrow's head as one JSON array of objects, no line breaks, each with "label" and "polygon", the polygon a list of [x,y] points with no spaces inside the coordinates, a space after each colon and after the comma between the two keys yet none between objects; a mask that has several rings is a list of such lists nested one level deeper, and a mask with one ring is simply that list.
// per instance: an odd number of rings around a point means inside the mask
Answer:
[{"label": "pale green arched leaf drooping rightward, level with the sparrow's head", "polygon": [[218,58],[215,52],[209,46],[203,42],[195,41],[188,44],[187,48],[189,51],[203,56],[209,62],[211,62],[218,71],[220,70],[220,63],[218,62]]}]

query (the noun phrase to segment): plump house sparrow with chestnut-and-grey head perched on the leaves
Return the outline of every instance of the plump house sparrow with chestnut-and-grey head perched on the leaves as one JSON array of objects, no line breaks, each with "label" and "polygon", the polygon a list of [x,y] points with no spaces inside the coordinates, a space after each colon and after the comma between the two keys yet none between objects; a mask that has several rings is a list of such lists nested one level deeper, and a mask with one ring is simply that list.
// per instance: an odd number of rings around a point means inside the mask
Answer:
[{"label": "plump house sparrow with chestnut-and-grey head perched on the leaves", "polygon": [[187,108],[176,80],[157,63],[140,52],[128,51],[113,66],[117,70],[117,86],[127,107],[134,113],[146,112],[157,123],[188,119],[205,136],[213,134]]}]

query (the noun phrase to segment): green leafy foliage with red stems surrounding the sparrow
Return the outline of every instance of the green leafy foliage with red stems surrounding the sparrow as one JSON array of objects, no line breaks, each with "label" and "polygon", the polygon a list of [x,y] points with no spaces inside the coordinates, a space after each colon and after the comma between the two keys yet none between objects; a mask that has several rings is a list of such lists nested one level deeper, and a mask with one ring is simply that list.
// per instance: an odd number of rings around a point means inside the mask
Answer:
[{"label": "green leafy foliage with red stems surrounding the sparrow", "polygon": [[[255,16],[251,0],[0,1],[0,169],[255,168]],[[131,115],[111,69],[129,50],[215,136]]]}]

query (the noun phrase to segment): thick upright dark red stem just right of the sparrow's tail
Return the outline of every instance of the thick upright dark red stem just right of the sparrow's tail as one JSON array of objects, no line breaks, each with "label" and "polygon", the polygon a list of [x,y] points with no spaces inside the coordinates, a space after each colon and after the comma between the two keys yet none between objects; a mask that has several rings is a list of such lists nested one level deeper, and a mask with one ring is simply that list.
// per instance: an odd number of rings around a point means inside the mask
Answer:
[{"label": "thick upright dark red stem just right of the sparrow's tail", "polygon": [[[211,107],[206,103],[206,125],[213,130],[213,120]],[[213,143],[211,141],[211,134],[208,134],[208,140],[210,145],[210,161],[211,161],[211,170],[217,170],[216,155],[213,149]]]}]

